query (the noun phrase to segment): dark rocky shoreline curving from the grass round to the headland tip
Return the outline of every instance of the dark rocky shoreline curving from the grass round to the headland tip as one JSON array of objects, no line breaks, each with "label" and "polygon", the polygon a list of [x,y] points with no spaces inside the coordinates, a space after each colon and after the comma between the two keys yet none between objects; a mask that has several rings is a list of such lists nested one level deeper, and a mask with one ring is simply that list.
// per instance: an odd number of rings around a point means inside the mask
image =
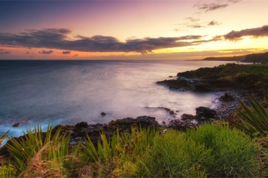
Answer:
[{"label": "dark rocky shoreline curving from the grass round to the headland tip", "polygon": [[[233,67],[229,65],[227,67]],[[237,67],[237,66],[234,66]],[[241,66],[239,66],[240,68]],[[215,73],[220,73],[225,69],[224,66],[211,68],[209,71],[207,68],[198,69],[197,71],[187,71],[185,73],[178,73],[177,79],[170,79],[164,81],[158,81],[157,84],[164,84],[169,88],[175,88],[179,90],[192,90],[193,92],[208,92],[211,90],[221,90],[225,92],[223,96],[219,97],[219,105],[212,110],[208,107],[197,107],[196,115],[182,114],[181,118],[175,117],[177,115],[176,111],[172,111],[166,107],[157,107],[159,110],[166,110],[170,115],[174,116],[175,119],[170,120],[169,123],[157,123],[155,117],[151,116],[139,116],[137,118],[122,118],[118,120],[112,120],[106,124],[96,124],[89,125],[88,123],[82,122],[76,125],[58,125],[53,131],[55,132],[58,127],[62,127],[62,132],[69,133],[71,136],[69,145],[70,147],[77,144],[78,142],[84,142],[84,138],[89,136],[93,144],[97,145],[100,141],[100,133],[105,133],[107,138],[111,138],[114,131],[118,129],[119,132],[130,132],[131,128],[135,129],[153,129],[158,128],[160,131],[165,131],[166,129],[176,129],[179,131],[185,131],[186,129],[198,127],[203,123],[211,123],[219,119],[227,120],[235,112],[239,105],[239,102],[248,103],[248,97],[262,100],[258,90],[252,90],[250,86],[237,87],[238,84],[228,83],[230,78],[215,75]],[[203,75],[200,75],[200,74]],[[196,76],[199,78],[192,79]],[[203,76],[203,77],[202,77]],[[186,78],[188,77],[188,78]],[[245,81],[243,81],[245,82]],[[231,85],[232,84],[232,85]],[[256,86],[254,86],[255,88]],[[150,108],[148,108],[150,109]],[[102,116],[105,115],[104,112],[101,113]],[[44,133],[45,135],[45,133]],[[14,139],[21,139],[14,138]],[[8,144],[10,141],[8,141]],[[5,146],[0,149],[0,156],[8,156],[8,150]]]}]

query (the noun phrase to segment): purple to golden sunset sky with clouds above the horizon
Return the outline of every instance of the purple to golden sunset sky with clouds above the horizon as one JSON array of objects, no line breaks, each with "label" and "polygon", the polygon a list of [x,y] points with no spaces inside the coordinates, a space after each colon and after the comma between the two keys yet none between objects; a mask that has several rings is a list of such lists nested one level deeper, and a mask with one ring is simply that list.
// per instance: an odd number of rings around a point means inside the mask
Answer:
[{"label": "purple to golden sunset sky with clouds above the horizon", "polygon": [[0,60],[199,60],[268,51],[268,0],[0,1]]}]

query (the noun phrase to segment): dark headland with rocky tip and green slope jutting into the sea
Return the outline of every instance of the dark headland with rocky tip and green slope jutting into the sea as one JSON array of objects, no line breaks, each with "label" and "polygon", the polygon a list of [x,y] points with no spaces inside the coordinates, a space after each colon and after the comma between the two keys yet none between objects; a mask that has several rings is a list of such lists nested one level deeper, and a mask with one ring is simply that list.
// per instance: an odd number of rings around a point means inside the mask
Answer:
[{"label": "dark headland with rocky tip and green slope jutting into the sea", "polygon": [[158,81],[170,88],[205,92],[221,88],[268,88],[268,64],[225,64],[177,74],[177,79]]}]

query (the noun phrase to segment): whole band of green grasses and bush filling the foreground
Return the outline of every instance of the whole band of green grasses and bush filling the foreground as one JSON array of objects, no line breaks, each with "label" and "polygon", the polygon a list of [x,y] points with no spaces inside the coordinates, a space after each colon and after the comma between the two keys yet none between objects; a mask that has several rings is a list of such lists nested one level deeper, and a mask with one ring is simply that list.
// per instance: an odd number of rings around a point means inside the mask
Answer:
[{"label": "whole band of green grasses and bush filling the foreground", "polygon": [[[85,139],[85,145],[80,143],[71,150],[68,150],[69,136],[60,136],[60,129],[53,137],[52,128],[49,127],[48,136],[42,140],[41,129],[38,128],[36,133],[27,131],[25,138],[27,140],[13,141],[15,146],[8,146],[15,162],[2,165],[0,176],[255,177],[258,175],[254,142],[245,133],[229,129],[227,126],[202,125],[186,132],[170,130],[161,134],[155,129],[131,129],[131,133],[115,132],[111,138],[102,133],[102,142],[98,142],[97,147],[88,137]],[[22,151],[18,153],[19,150]]]}]

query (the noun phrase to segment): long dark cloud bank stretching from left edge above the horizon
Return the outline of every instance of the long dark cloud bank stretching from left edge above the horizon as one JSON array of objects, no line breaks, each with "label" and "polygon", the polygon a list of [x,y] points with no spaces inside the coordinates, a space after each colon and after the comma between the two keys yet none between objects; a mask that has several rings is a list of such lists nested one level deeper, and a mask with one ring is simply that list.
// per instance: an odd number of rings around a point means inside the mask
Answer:
[{"label": "long dark cloud bank stretching from left edge above the horizon", "polygon": [[[21,34],[0,33],[0,44],[28,48],[62,49],[67,51],[86,52],[130,52],[148,53],[155,49],[168,47],[186,47],[199,44],[202,36],[159,37],[127,39],[120,42],[112,36],[76,36],[76,40],[67,40],[69,29],[27,30]],[[191,40],[191,41],[185,41]],[[52,53],[41,51],[40,53]]]}]

